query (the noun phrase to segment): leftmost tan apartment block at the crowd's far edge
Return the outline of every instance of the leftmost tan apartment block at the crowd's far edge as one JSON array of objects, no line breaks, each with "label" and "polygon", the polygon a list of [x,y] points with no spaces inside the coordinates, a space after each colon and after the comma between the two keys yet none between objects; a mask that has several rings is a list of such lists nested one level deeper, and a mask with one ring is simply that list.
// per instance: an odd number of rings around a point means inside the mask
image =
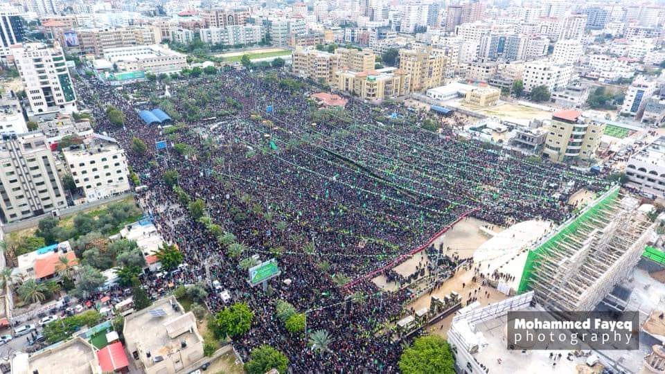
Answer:
[{"label": "leftmost tan apartment block at the crowd's far edge", "polygon": [[323,84],[334,84],[339,69],[339,55],[314,48],[296,49],[292,53],[293,73]]}]

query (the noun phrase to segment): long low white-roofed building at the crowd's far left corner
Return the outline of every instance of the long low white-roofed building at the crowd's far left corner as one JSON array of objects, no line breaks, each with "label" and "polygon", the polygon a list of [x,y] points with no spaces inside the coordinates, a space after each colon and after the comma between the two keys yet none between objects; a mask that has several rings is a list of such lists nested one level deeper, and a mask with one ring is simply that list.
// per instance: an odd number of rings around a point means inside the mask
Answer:
[{"label": "long low white-roofed building at the crowd's far left corner", "polygon": [[105,49],[104,59],[118,66],[118,71],[153,74],[179,72],[187,66],[183,53],[158,44]]}]

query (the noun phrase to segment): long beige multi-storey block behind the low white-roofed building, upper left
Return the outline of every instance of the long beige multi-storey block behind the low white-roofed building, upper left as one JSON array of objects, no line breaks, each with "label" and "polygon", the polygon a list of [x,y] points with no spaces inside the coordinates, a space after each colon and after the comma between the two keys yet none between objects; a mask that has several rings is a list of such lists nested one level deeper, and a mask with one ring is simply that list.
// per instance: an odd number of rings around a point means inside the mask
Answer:
[{"label": "long beige multi-storey block behind the low white-roofed building, upper left", "polygon": [[81,53],[96,56],[103,55],[109,48],[157,44],[162,39],[161,28],[158,26],[79,29],[76,35]]}]

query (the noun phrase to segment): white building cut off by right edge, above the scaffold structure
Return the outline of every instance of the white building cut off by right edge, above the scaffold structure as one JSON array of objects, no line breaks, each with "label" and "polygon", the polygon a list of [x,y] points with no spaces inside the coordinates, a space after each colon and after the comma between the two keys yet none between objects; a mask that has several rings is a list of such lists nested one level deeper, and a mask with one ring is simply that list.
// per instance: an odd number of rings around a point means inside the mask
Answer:
[{"label": "white building cut off by right edge, above the scaffold structure", "polygon": [[665,136],[633,154],[626,163],[629,183],[658,197],[665,194]]}]

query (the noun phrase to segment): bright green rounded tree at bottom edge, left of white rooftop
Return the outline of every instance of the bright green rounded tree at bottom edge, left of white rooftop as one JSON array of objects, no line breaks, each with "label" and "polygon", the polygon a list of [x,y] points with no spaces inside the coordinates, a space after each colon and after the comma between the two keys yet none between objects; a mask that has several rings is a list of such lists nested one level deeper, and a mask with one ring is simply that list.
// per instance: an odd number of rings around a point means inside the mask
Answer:
[{"label": "bright green rounded tree at bottom edge, left of white rooftop", "polygon": [[413,345],[402,352],[399,366],[404,374],[455,373],[455,359],[450,345],[437,335],[417,338]]}]

